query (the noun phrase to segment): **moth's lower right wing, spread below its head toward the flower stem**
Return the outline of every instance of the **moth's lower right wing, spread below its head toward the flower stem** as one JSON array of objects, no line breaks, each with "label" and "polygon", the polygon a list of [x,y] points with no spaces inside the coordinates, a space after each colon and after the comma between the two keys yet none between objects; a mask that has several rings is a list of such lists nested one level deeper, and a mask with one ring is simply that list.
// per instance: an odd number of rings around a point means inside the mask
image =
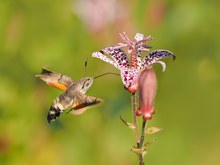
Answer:
[{"label": "moth's lower right wing, spread below its head toward the flower stem", "polygon": [[74,115],[80,115],[84,113],[87,109],[100,105],[101,103],[103,103],[102,99],[87,96],[78,92],[74,97],[74,101],[71,107],[72,110],[70,111],[70,113]]}]

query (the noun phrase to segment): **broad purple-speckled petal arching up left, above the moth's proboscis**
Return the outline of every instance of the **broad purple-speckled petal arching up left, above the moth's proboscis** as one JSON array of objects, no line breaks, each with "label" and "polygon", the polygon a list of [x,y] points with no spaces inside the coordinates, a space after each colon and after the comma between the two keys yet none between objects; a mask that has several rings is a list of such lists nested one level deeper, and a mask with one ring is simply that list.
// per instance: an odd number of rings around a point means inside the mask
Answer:
[{"label": "broad purple-speckled petal arching up left, above the moth's proboscis", "polygon": [[120,69],[129,67],[128,57],[122,49],[109,46],[102,49],[102,51],[114,59],[117,64],[117,68]]}]

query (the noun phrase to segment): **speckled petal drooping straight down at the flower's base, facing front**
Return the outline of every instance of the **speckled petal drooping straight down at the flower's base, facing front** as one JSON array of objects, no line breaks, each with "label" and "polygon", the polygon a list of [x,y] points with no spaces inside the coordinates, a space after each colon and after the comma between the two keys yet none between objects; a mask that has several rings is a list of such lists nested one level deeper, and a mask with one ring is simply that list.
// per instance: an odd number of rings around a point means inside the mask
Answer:
[{"label": "speckled petal drooping straight down at the flower's base, facing front", "polygon": [[137,82],[140,70],[133,68],[124,68],[121,70],[121,79],[126,88]]}]

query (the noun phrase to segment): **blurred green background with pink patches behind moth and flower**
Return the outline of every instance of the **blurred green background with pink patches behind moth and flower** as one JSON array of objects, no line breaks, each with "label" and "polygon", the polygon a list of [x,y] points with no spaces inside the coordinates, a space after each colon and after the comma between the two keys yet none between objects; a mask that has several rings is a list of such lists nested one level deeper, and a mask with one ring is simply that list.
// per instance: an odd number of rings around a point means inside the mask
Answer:
[{"label": "blurred green background with pink patches behind moth and flower", "polygon": [[[82,116],[46,115],[61,92],[34,77],[41,67],[80,79],[91,53],[140,32],[153,49],[175,53],[166,72],[155,65],[156,114],[149,126],[164,130],[146,164],[220,164],[219,0],[1,0],[0,164],[133,165],[130,95],[115,76],[97,79],[88,95],[105,100]],[[87,76],[118,72],[89,58]]]}]

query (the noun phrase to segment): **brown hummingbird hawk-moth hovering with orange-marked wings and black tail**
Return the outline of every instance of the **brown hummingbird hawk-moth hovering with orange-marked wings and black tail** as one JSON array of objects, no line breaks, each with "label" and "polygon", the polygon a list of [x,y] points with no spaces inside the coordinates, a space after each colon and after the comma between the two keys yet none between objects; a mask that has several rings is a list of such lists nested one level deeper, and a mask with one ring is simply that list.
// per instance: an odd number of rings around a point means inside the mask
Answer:
[{"label": "brown hummingbird hawk-moth hovering with orange-marked wings and black tail", "polygon": [[101,99],[87,96],[86,92],[93,84],[93,77],[84,77],[78,81],[72,80],[70,77],[42,69],[40,75],[36,75],[48,85],[62,90],[60,96],[55,98],[47,115],[48,123],[51,123],[59,117],[62,112],[70,109],[70,113],[74,115],[82,114],[88,108],[103,102]]}]

